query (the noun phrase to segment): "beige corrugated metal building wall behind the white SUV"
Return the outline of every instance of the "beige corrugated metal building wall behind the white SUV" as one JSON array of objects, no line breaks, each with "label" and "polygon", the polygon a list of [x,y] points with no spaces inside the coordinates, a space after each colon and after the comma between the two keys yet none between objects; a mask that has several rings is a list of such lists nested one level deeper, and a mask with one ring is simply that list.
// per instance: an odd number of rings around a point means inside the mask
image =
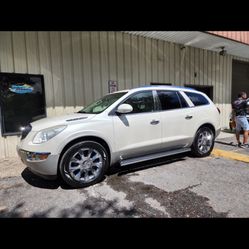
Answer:
[{"label": "beige corrugated metal building wall behind the white SUV", "polygon": [[[71,113],[108,92],[150,82],[214,87],[227,126],[232,56],[122,32],[0,32],[0,71],[43,74],[48,116]],[[196,77],[195,77],[196,73]],[[0,137],[0,157],[16,136]]]}]

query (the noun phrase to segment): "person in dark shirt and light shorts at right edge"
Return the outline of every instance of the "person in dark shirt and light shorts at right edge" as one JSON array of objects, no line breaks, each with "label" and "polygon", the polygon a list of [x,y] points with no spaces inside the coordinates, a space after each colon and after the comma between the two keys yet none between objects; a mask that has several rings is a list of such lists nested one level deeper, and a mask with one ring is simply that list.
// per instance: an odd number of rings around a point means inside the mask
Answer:
[{"label": "person in dark shirt and light shorts at right edge", "polygon": [[[238,98],[232,103],[233,114],[236,121],[236,139],[239,147],[249,148],[248,131],[249,124],[246,118],[249,99],[245,92],[240,92]],[[240,142],[240,131],[243,129],[243,144]]]}]

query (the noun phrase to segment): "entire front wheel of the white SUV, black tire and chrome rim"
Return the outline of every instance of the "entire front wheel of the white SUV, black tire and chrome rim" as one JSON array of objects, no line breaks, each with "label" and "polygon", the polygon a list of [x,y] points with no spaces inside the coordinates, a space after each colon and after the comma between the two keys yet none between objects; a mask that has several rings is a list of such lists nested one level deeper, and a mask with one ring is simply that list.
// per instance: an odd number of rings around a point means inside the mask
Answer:
[{"label": "entire front wheel of the white SUV, black tire and chrome rim", "polygon": [[68,185],[83,188],[101,181],[108,166],[108,153],[101,144],[82,141],[63,154],[59,171]]}]

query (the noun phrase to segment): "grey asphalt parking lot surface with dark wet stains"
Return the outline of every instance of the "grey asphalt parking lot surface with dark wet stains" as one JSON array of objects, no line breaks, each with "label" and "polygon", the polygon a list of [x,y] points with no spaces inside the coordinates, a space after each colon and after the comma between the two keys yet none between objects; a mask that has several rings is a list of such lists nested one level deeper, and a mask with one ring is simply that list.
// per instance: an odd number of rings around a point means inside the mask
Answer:
[{"label": "grey asphalt parking lot surface with dark wet stains", "polygon": [[[233,136],[215,149],[249,156]],[[70,189],[9,158],[0,161],[0,217],[249,217],[249,165],[183,154],[116,167],[94,186]]]}]

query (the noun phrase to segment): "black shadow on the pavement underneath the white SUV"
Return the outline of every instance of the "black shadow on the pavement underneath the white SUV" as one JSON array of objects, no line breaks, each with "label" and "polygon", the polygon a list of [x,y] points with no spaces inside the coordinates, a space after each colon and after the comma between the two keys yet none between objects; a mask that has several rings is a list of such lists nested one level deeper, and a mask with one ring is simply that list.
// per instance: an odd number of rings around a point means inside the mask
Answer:
[{"label": "black shadow on the pavement underneath the white SUV", "polygon": [[[106,173],[106,176],[111,176],[114,174],[117,174],[117,176],[126,175],[129,173],[138,172],[141,170],[146,170],[148,168],[153,168],[157,166],[162,166],[165,164],[171,164],[177,161],[184,161],[186,160],[184,157],[189,156],[188,153],[183,153],[175,156],[169,156],[169,157],[163,157],[160,159],[154,159],[149,160],[146,162],[140,162],[136,164],[131,164],[129,166],[120,166],[120,164],[115,164],[112,167],[110,167]],[[67,185],[61,177],[58,177],[56,180],[47,180],[43,179],[40,176],[35,175],[33,172],[31,172],[28,168],[25,168],[21,173],[22,178],[31,186],[37,187],[37,188],[44,188],[44,189],[58,189],[59,187],[64,190],[70,190],[75,189],[73,187],[70,187]],[[104,177],[102,181],[105,180],[106,177]]]}]

